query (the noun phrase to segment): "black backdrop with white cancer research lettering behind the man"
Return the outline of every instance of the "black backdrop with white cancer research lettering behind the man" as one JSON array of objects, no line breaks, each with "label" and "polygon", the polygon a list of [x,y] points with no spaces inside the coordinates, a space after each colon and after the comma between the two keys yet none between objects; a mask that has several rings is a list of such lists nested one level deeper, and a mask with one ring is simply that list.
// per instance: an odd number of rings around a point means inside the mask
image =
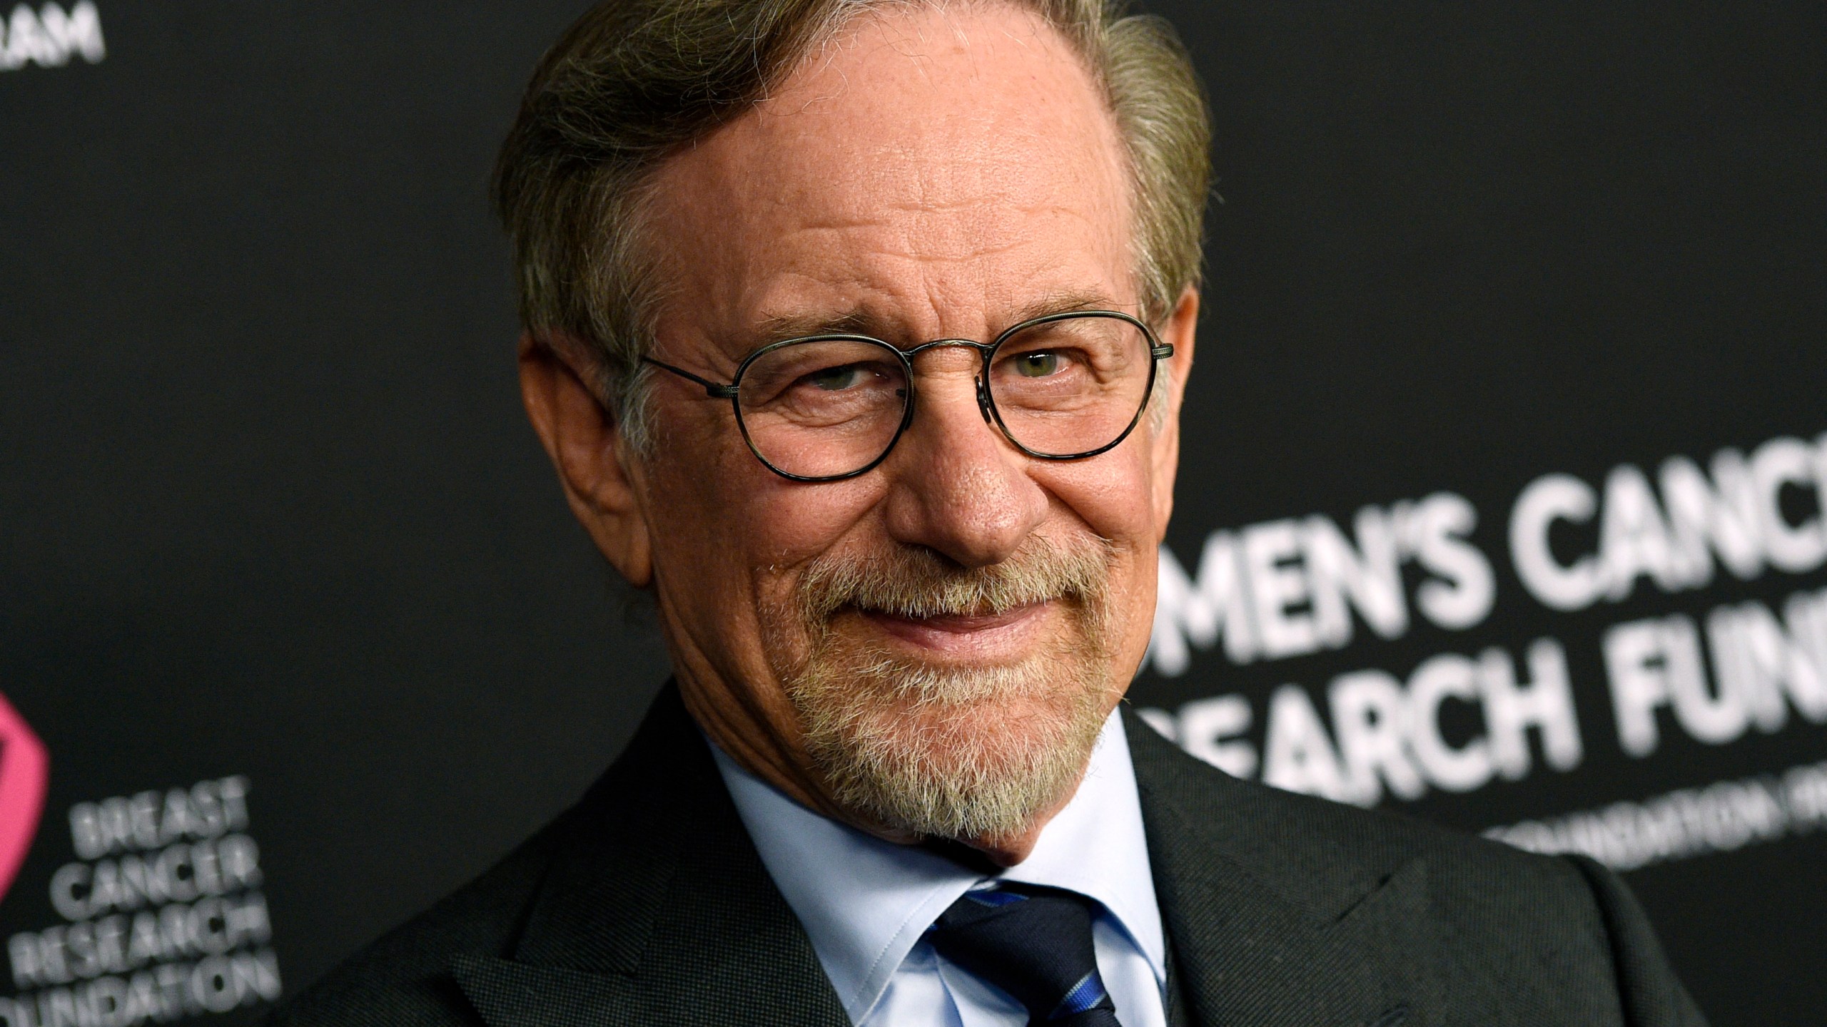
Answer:
[{"label": "black backdrop with white cancer research lettering behind the man", "polygon": [[[1222,203],[1136,704],[1242,771],[1595,852],[1716,1023],[1820,1022],[1827,13],[1151,7],[1209,84]],[[484,206],[577,11],[11,15],[0,870],[49,775],[0,1023],[258,1014],[557,811],[661,680],[523,422]],[[1672,457],[1763,497],[1741,574],[1681,563]],[[1524,495],[1573,499],[1513,543]],[[1538,599],[1529,537],[1602,546],[1617,596]],[[1564,669],[1571,757],[1491,757],[1505,665]]]}]

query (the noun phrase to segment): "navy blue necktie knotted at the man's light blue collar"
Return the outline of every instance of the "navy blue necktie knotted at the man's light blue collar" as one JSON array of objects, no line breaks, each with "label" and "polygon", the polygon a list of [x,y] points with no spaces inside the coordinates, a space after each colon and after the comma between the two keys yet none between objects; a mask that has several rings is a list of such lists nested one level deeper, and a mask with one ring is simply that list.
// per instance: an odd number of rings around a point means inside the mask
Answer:
[{"label": "navy blue necktie knotted at the man's light blue collar", "polygon": [[1091,945],[1089,899],[998,884],[965,892],[926,932],[952,963],[1029,1011],[1029,1027],[1122,1027]]}]

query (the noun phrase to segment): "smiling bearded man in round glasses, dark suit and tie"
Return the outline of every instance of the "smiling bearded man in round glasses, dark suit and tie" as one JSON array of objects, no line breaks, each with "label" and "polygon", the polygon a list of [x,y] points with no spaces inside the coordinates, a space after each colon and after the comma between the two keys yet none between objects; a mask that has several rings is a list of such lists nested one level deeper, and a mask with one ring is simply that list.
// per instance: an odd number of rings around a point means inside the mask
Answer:
[{"label": "smiling bearded man in round glasses, dark suit and tie", "polygon": [[281,1023],[1699,1023],[1632,897],[1120,715],[1206,113],[1104,0],[621,0],[502,152],[528,413],[674,663]]}]

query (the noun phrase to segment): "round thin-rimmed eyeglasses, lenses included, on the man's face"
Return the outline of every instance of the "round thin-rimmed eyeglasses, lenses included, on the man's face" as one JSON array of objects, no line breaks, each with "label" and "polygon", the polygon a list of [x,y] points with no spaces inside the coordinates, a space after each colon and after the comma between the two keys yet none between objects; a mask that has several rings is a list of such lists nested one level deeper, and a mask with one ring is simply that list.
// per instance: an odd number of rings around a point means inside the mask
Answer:
[{"label": "round thin-rimmed eyeglasses, lenses included, on the man's face", "polygon": [[767,470],[793,481],[842,481],[873,470],[914,422],[914,358],[961,345],[983,358],[977,409],[1041,461],[1096,457],[1135,431],[1173,356],[1147,325],[1116,311],[1021,322],[985,345],[941,338],[899,349],[864,334],[815,334],[764,345],[727,386],[643,356],[727,398]]}]

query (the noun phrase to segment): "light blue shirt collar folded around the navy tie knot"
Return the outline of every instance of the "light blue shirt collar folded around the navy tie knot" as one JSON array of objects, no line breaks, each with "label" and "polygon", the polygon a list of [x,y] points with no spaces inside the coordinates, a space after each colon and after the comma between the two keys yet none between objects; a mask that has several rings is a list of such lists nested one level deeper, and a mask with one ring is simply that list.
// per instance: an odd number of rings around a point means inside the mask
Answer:
[{"label": "light blue shirt collar folded around the navy tie knot", "polygon": [[[813,813],[714,744],[711,753],[844,1011],[861,1022],[932,921],[985,877],[935,852],[886,842]],[[1155,970],[1156,983],[1166,981],[1142,802],[1129,740],[1114,711],[1098,733],[1072,800],[1047,822],[1034,852],[999,879],[1069,888],[1104,903]]]}]

